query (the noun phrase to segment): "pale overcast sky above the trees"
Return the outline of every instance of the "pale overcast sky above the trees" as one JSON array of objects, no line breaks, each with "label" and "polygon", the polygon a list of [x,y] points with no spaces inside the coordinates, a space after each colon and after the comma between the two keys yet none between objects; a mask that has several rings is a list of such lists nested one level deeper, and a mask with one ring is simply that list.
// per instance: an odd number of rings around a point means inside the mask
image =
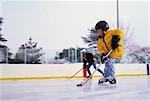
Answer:
[{"label": "pale overcast sky above the trees", "polygon": [[[120,22],[134,28],[133,41],[150,46],[149,0],[119,0]],[[81,36],[99,20],[116,27],[116,0],[2,0],[2,33],[10,49],[29,37],[44,50],[82,47]]]}]

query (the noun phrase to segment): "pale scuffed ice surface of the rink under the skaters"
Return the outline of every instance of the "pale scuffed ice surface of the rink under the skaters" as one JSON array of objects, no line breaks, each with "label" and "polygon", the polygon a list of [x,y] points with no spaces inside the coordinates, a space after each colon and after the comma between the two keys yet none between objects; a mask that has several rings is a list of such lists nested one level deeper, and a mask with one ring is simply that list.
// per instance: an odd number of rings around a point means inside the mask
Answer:
[{"label": "pale scuffed ice surface of the rink under the skaters", "polygon": [[117,84],[77,87],[82,79],[0,81],[0,101],[150,101],[150,76],[117,77]]}]

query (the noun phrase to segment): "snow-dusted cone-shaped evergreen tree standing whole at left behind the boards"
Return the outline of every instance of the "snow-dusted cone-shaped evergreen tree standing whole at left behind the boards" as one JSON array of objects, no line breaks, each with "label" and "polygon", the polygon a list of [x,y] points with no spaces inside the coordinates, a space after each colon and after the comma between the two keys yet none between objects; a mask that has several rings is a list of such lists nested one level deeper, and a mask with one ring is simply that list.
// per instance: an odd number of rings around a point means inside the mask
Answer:
[{"label": "snow-dusted cone-shaped evergreen tree standing whole at left behind the boards", "polygon": [[32,42],[32,38],[29,41],[19,47],[15,56],[16,63],[26,64],[41,64],[43,56],[42,48],[37,48],[37,43]]}]

